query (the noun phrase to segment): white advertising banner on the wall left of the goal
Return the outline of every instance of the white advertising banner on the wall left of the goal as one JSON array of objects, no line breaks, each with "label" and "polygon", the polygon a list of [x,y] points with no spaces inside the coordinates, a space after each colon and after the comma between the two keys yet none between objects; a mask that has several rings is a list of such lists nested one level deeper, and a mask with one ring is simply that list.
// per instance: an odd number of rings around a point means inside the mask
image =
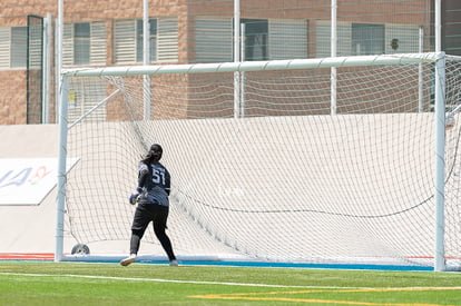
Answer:
[{"label": "white advertising banner on the wall left of the goal", "polygon": [[[67,171],[77,160],[67,160]],[[39,205],[57,182],[57,158],[0,158],[0,205]]]}]

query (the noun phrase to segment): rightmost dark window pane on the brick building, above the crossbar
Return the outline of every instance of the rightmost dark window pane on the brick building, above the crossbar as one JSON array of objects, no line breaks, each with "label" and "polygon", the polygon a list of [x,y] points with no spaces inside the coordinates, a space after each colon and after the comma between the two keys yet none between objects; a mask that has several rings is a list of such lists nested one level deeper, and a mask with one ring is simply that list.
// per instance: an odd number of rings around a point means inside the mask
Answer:
[{"label": "rightmost dark window pane on the brick building, above the crossbar", "polygon": [[384,53],[384,24],[352,23],[352,55]]}]

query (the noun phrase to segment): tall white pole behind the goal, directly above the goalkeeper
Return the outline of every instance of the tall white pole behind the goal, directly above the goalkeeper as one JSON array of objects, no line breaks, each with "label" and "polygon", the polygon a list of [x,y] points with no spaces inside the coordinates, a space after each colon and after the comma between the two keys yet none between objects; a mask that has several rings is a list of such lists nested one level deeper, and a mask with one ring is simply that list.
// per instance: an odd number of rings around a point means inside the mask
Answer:
[{"label": "tall white pole behind the goal, directly above the goalkeeper", "polygon": [[[143,0],[143,63],[150,63],[150,23],[149,23],[149,0]],[[150,111],[150,76],[143,76],[144,119],[149,120]]]}]

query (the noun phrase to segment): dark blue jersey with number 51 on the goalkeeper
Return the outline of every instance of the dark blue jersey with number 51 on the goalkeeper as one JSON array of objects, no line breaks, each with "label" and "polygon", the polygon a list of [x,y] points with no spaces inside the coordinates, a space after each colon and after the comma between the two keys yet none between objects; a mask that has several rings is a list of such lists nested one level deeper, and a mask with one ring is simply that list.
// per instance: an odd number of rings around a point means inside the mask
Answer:
[{"label": "dark blue jersey with number 51 on the goalkeeper", "polygon": [[138,186],[144,190],[139,203],[169,205],[170,175],[160,162],[139,162]]}]

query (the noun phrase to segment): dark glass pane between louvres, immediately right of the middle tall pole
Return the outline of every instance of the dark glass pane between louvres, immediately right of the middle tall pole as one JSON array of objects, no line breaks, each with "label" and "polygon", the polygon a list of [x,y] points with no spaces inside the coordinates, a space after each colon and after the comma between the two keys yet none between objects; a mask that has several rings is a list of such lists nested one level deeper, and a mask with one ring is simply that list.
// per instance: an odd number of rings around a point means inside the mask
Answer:
[{"label": "dark glass pane between louvres, immediately right of the middle tall pole", "polygon": [[245,55],[242,55],[242,60],[267,60],[267,19],[242,19],[241,24],[244,24],[244,33],[241,34],[245,37]]}]

